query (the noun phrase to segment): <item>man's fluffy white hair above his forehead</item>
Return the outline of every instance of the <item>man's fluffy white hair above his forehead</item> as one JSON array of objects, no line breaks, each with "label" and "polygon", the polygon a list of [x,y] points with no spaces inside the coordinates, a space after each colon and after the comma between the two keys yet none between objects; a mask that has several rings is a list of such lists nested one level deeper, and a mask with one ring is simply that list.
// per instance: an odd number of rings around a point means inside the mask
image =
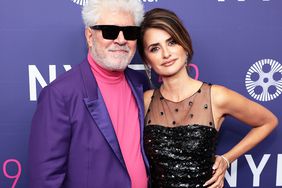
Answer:
[{"label": "man's fluffy white hair above his forehead", "polygon": [[130,12],[137,26],[142,22],[144,15],[144,7],[140,0],[88,0],[82,8],[85,27],[94,26],[105,10]]}]

